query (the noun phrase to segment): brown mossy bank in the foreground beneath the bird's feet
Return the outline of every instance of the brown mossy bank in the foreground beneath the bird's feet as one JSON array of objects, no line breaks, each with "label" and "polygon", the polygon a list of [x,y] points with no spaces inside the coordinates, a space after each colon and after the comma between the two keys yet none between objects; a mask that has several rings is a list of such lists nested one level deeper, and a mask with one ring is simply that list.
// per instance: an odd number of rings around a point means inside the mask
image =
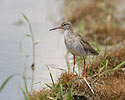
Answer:
[{"label": "brown mossy bank in the foreground beneath the bird's feet", "polygon": [[[120,52],[121,51],[121,52]],[[93,88],[93,94],[86,82],[76,76],[71,79],[71,74],[62,73],[55,86],[50,85],[51,89],[43,89],[30,95],[30,100],[68,100],[69,87],[71,88],[71,100],[124,100],[125,99],[125,64],[118,69],[117,65],[125,61],[125,44],[119,45],[118,48],[112,50],[93,61],[87,68],[87,81]],[[104,59],[108,61],[107,67]],[[98,62],[97,62],[98,61]],[[96,62],[96,63],[95,63]],[[124,62],[125,63],[125,62]],[[62,96],[58,85],[61,84]],[[39,99],[38,99],[39,98]],[[62,99],[63,98],[63,99]]]}]

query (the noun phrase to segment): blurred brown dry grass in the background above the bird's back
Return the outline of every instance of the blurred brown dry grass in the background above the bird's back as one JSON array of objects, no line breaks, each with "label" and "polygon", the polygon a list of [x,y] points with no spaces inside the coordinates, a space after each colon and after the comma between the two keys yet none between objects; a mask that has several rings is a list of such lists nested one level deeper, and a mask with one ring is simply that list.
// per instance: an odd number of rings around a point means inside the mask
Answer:
[{"label": "blurred brown dry grass in the background above the bird's back", "polygon": [[[66,0],[65,20],[71,21],[77,29],[82,22],[84,30],[90,40],[97,35],[99,44],[104,45],[108,40],[109,45],[125,40],[125,29],[120,26],[120,20],[115,17],[115,3],[118,0]],[[75,12],[75,14],[74,14]],[[81,26],[82,27],[82,26]],[[78,30],[77,30],[78,31]]]}]

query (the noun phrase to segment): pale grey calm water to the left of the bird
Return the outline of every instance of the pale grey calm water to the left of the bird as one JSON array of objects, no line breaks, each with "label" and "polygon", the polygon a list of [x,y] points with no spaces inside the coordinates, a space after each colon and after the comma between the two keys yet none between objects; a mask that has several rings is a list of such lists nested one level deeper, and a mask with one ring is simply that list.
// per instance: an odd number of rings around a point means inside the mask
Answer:
[{"label": "pale grey calm water to the left of the bird", "polygon": [[[63,34],[60,34],[59,30],[48,31],[49,28],[60,24],[59,8],[62,3],[61,0],[0,0],[0,85],[9,75],[15,73],[22,75],[26,71],[30,89],[32,45],[30,38],[22,38],[23,34],[29,33],[22,12],[32,23],[35,40],[39,40],[39,44],[36,45],[35,83],[51,82],[46,65],[67,68]],[[60,71],[52,68],[51,71],[56,81]],[[0,100],[22,100],[19,87],[24,88],[23,80],[21,76],[15,76],[3,89]],[[42,83],[34,85],[35,90],[42,87],[44,87]]]}]

